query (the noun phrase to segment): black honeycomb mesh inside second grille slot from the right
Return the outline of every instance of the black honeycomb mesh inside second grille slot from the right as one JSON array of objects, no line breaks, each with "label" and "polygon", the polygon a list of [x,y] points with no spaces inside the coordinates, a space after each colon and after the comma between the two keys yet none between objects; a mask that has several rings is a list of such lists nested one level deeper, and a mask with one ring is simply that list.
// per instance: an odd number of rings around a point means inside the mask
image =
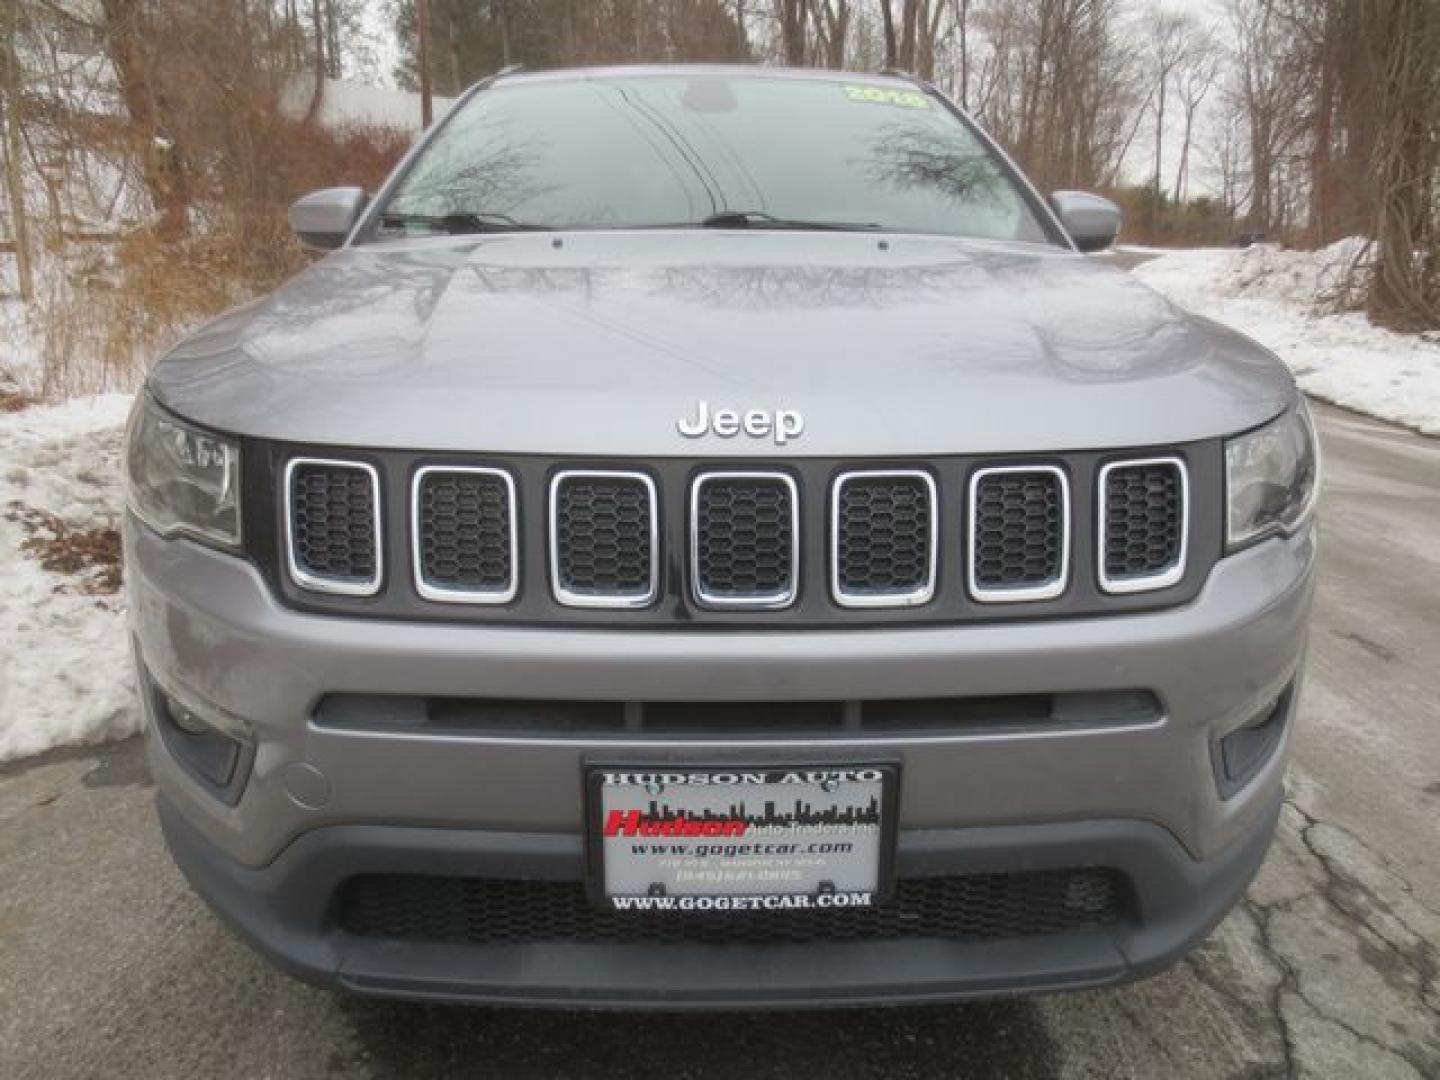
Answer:
[{"label": "black honeycomb mesh inside second grille slot from the right", "polygon": [[1040,588],[1060,577],[1064,501],[1054,472],[991,472],[975,492],[975,582]]}]

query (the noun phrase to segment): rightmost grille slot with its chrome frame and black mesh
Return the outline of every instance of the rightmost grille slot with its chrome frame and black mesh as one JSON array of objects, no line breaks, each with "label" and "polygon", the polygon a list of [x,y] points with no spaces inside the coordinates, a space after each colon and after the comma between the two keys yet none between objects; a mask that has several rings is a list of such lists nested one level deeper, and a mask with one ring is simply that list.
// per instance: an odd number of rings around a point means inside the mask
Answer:
[{"label": "rightmost grille slot with its chrome frame and black mesh", "polygon": [[1185,573],[1187,477],[1179,458],[1100,469],[1100,588],[1164,589]]}]

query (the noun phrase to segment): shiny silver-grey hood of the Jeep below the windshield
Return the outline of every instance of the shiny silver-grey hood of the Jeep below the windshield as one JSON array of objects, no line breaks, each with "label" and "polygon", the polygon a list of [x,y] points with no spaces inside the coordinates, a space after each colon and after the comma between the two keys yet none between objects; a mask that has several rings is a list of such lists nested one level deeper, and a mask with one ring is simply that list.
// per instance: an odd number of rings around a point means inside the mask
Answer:
[{"label": "shiny silver-grey hood of the Jeep below the windshield", "polygon": [[[1092,258],[759,230],[347,248],[181,343],[151,387],[245,435],[585,456],[1145,446],[1295,397],[1259,346]],[[798,412],[804,435],[684,438],[700,402]]]}]

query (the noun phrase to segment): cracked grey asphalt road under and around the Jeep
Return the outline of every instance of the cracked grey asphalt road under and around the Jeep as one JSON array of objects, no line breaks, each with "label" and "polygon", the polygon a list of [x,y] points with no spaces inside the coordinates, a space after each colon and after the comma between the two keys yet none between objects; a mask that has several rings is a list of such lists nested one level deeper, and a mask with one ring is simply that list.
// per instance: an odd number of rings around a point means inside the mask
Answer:
[{"label": "cracked grey asphalt road under and around the Jeep", "polygon": [[0,1077],[1440,1076],[1440,441],[1320,409],[1290,802],[1248,900],[1122,989],[789,1015],[340,999],[171,867],[138,743],[0,769]]}]

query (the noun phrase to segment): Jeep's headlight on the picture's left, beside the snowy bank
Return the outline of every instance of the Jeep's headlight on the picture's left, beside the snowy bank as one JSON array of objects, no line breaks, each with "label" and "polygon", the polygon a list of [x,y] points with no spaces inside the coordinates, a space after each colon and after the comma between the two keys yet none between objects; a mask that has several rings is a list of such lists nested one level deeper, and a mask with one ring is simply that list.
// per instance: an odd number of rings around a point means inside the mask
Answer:
[{"label": "Jeep's headlight on the picture's left, beside the snowy bank", "polygon": [[240,543],[240,448],[181,423],[141,392],[125,446],[131,510],[160,533]]}]

